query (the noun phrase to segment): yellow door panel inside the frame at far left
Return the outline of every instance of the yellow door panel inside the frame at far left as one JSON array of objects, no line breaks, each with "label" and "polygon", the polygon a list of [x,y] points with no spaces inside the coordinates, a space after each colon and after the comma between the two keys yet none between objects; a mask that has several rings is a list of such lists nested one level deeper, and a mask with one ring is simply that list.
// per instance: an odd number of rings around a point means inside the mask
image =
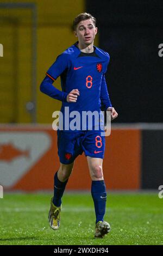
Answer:
[{"label": "yellow door panel inside the frame at far left", "polygon": [[0,41],[4,54],[0,59],[1,123],[30,122],[26,102],[31,99],[32,11],[0,8]]}]

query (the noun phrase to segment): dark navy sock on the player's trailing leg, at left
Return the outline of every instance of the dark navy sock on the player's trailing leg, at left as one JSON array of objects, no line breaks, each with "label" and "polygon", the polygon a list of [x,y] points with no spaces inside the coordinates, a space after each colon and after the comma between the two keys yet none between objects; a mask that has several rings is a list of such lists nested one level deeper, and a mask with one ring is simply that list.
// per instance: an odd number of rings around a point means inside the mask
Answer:
[{"label": "dark navy sock on the player's trailing leg, at left", "polygon": [[61,205],[61,198],[62,198],[62,196],[64,194],[65,187],[66,187],[68,179],[66,181],[64,181],[64,182],[61,182],[58,179],[57,173],[55,173],[55,175],[54,175],[54,197],[53,197],[53,204],[55,206],[59,207]]}]

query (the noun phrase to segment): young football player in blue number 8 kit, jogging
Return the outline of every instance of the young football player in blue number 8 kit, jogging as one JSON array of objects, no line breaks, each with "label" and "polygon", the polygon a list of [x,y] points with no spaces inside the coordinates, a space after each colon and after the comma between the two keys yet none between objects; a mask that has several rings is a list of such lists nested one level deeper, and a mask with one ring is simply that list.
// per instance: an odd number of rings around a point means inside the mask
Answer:
[{"label": "young football player in blue number 8 kit, jogging", "polygon": [[[109,54],[93,46],[97,34],[96,19],[91,14],[79,14],[73,21],[74,33],[78,41],[61,53],[42,81],[41,92],[62,101],[61,112],[65,107],[70,113],[78,111],[98,111],[101,102],[106,111],[111,112],[111,119],[117,112],[111,106],[105,82],[105,72],[109,63]],[[52,84],[60,76],[62,92]],[[94,120],[95,121],[95,120]],[[96,122],[95,122],[96,123]],[[60,225],[61,198],[74,165],[74,160],[83,151],[87,157],[92,179],[91,194],[95,205],[95,237],[104,237],[110,231],[110,225],[103,220],[106,205],[106,187],[103,178],[102,163],[104,158],[105,137],[101,129],[58,130],[58,155],[60,167],[54,175],[54,196],[51,200],[48,221],[56,230]]]}]

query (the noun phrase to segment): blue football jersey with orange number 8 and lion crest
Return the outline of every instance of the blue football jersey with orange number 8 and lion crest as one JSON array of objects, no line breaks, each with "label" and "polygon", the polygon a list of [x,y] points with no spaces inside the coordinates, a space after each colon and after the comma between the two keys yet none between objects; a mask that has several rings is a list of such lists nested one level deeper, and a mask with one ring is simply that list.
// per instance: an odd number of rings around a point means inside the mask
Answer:
[{"label": "blue football jersey with orange number 8 and lion crest", "polygon": [[[93,46],[92,53],[83,53],[77,44],[78,42],[61,53],[46,75],[53,81],[60,76],[62,92],[68,94],[73,89],[79,90],[77,102],[62,101],[63,115],[65,115],[65,107],[69,107],[69,112],[78,111],[82,114],[83,111],[98,111],[100,113],[101,102],[105,110],[111,107],[105,82],[105,72],[110,57],[107,52],[96,46]],[[82,124],[80,130],[82,130]]]}]

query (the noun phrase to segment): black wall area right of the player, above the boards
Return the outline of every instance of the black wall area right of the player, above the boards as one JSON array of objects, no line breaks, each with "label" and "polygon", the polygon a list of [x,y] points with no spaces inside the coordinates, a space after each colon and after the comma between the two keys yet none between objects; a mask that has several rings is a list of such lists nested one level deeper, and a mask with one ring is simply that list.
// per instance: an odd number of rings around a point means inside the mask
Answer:
[{"label": "black wall area right of the player, above the boards", "polygon": [[99,47],[110,54],[106,74],[118,123],[160,123],[162,114],[163,1],[89,0]]}]

